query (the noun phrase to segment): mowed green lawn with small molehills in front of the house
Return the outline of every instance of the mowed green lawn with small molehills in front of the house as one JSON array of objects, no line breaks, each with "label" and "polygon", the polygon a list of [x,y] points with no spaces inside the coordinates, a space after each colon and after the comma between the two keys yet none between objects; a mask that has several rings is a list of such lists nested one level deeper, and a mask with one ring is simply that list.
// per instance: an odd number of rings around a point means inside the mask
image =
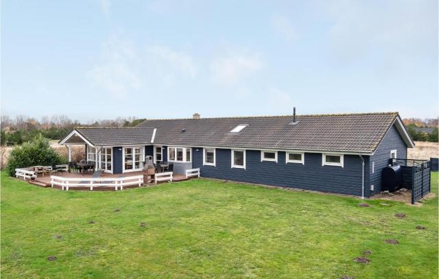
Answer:
[{"label": "mowed green lawn with small molehills in front of the house", "polygon": [[[363,208],[352,197],[204,179],[66,192],[2,173],[1,276],[438,278],[438,173],[432,181],[436,197],[423,206]],[[370,263],[355,263],[366,250]]]}]

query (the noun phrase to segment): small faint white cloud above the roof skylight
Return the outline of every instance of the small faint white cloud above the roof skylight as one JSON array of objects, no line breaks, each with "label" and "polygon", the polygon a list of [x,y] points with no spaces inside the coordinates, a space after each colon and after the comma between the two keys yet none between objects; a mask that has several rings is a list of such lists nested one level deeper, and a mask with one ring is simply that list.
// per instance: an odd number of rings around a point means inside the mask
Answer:
[{"label": "small faint white cloud above the roof skylight", "polygon": [[211,63],[214,79],[222,84],[235,84],[262,67],[263,62],[257,55],[231,55],[217,58]]}]

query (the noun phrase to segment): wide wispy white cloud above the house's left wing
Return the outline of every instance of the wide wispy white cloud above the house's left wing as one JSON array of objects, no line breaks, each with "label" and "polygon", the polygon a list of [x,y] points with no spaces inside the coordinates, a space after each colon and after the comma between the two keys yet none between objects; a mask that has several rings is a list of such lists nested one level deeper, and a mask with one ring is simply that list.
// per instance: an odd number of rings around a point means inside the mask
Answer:
[{"label": "wide wispy white cloud above the house's left wing", "polygon": [[164,45],[146,45],[142,51],[128,40],[112,36],[101,60],[87,72],[98,86],[116,97],[135,90],[155,92],[197,75],[197,65],[186,53]]}]

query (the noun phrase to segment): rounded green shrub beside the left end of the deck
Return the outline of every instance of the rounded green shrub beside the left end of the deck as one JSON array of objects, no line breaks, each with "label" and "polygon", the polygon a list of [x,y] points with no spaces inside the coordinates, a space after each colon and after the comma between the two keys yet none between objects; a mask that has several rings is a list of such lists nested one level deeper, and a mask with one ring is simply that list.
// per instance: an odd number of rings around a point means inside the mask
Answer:
[{"label": "rounded green shrub beside the left end of the deck", "polygon": [[47,138],[38,134],[31,141],[16,145],[8,159],[8,167],[6,171],[8,175],[14,176],[15,169],[31,166],[53,166],[66,163],[67,159],[59,156],[56,151],[50,147]]}]

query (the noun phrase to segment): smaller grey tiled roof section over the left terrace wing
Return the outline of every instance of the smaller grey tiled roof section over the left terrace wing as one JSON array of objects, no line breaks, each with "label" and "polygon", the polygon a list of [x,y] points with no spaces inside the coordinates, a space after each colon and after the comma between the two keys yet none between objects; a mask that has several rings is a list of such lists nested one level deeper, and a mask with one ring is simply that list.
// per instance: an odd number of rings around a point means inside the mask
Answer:
[{"label": "smaller grey tiled roof section over the left terrace wing", "polygon": [[154,128],[75,128],[93,145],[150,144]]}]

